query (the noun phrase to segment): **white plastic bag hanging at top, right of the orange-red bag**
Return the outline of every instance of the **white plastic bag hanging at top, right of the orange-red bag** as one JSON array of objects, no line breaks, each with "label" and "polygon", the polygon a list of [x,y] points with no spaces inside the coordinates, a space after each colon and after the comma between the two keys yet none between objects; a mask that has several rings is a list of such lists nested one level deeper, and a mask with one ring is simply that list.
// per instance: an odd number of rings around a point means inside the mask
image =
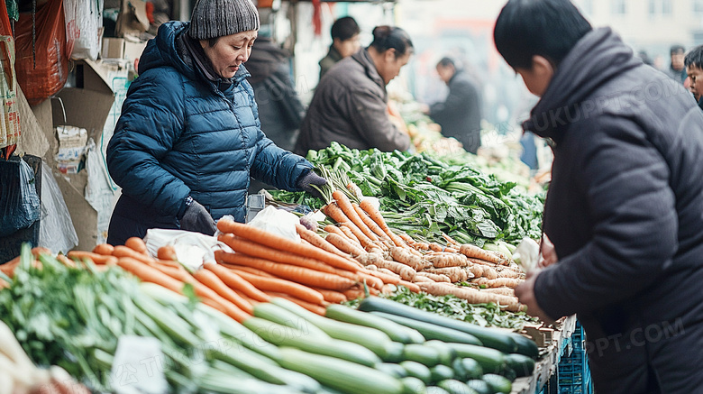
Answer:
[{"label": "white plastic bag hanging at top, right of the orange-red bag", "polygon": [[103,29],[103,0],[64,0],[63,7],[68,57],[96,60]]}]

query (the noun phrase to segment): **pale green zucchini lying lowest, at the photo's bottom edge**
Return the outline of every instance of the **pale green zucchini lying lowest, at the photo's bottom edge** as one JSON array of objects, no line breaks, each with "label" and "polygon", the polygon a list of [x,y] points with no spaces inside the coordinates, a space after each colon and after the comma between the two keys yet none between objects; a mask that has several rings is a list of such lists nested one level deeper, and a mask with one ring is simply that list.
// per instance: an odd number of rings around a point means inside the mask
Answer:
[{"label": "pale green zucchini lying lowest, at the photo's bottom edge", "polygon": [[345,394],[403,394],[405,391],[400,380],[361,364],[286,347],[280,353],[283,368],[304,373]]}]

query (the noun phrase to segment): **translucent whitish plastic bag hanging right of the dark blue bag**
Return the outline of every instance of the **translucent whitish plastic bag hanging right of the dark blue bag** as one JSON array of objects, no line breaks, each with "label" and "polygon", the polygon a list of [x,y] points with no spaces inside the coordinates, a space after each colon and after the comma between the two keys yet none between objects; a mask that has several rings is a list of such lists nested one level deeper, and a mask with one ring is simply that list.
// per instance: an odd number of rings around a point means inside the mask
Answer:
[{"label": "translucent whitish plastic bag hanging right of the dark blue bag", "polygon": [[52,253],[67,253],[78,245],[78,234],[68,213],[66,201],[49,165],[41,161],[41,225],[39,246]]}]

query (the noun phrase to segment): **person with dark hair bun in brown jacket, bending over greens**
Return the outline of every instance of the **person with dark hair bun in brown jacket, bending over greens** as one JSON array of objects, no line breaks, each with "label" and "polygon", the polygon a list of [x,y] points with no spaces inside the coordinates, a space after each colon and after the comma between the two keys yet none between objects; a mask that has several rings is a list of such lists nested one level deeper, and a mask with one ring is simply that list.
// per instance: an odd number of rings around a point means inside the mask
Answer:
[{"label": "person with dark hair bun in brown jacket, bending over greens", "polygon": [[404,30],[377,26],[369,48],[340,61],[320,81],[295,151],[305,155],[333,141],[360,150],[410,148],[410,137],[388,118],[386,85],[397,77],[412,53],[413,43]]}]

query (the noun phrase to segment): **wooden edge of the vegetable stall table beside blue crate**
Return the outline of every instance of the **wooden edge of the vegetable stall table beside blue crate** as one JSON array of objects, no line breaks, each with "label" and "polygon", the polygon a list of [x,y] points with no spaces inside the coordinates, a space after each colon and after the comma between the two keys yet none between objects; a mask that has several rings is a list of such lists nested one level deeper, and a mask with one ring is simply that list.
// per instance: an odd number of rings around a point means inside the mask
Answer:
[{"label": "wooden edge of the vegetable stall table beside blue crate", "polygon": [[552,343],[546,353],[534,366],[532,376],[519,378],[513,382],[512,394],[539,394],[557,391],[557,369],[561,356],[571,352],[571,336],[576,331],[576,316],[566,317],[561,326],[554,330]]}]

